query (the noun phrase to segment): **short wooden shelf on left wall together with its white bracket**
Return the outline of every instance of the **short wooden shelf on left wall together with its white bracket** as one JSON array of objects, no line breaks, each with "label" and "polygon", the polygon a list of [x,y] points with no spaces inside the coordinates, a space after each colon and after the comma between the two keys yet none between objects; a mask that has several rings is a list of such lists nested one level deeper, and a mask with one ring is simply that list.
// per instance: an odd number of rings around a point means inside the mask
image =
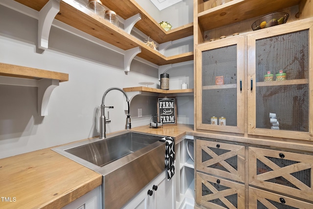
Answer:
[{"label": "short wooden shelf on left wall together with its white bracket", "polygon": [[51,93],[60,82],[68,81],[68,74],[0,63],[0,84],[38,87],[38,114],[48,115]]}]

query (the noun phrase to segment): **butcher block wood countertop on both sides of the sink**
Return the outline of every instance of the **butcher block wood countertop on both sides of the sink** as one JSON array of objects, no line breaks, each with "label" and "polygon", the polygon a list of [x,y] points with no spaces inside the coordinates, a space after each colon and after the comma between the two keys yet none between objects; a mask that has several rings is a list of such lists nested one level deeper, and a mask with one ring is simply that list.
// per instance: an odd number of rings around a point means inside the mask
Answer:
[{"label": "butcher block wood countertop on both sides of the sink", "polygon": [[[132,130],[178,139],[193,125]],[[101,174],[50,148],[0,159],[0,209],[60,209],[101,184]]]}]

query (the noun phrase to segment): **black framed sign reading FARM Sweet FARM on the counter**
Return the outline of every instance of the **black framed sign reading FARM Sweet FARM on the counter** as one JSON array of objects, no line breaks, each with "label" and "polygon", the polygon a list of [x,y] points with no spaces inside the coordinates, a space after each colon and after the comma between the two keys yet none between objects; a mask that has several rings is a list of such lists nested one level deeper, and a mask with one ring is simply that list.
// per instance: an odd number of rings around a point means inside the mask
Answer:
[{"label": "black framed sign reading FARM Sweet FARM on the counter", "polygon": [[163,125],[177,125],[176,98],[157,98],[157,114]]}]

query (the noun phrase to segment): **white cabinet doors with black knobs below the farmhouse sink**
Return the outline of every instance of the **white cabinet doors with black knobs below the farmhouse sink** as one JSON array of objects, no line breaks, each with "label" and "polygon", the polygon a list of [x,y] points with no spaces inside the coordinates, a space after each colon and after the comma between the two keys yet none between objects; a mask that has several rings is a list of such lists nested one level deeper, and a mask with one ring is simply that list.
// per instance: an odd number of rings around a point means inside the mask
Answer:
[{"label": "white cabinet doors with black knobs below the farmhouse sink", "polygon": [[160,173],[122,209],[175,209],[175,179],[167,180],[167,171]]}]

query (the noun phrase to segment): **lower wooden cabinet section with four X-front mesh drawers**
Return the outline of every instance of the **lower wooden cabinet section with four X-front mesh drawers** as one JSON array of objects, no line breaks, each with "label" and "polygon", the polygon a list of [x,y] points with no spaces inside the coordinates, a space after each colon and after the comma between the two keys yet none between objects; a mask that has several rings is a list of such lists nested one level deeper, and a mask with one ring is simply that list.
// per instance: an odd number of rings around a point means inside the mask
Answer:
[{"label": "lower wooden cabinet section with four X-front mesh drawers", "polygon": [[196,203],[220,209],[313,208],[313,149],[265,140],[196,138]]}]

